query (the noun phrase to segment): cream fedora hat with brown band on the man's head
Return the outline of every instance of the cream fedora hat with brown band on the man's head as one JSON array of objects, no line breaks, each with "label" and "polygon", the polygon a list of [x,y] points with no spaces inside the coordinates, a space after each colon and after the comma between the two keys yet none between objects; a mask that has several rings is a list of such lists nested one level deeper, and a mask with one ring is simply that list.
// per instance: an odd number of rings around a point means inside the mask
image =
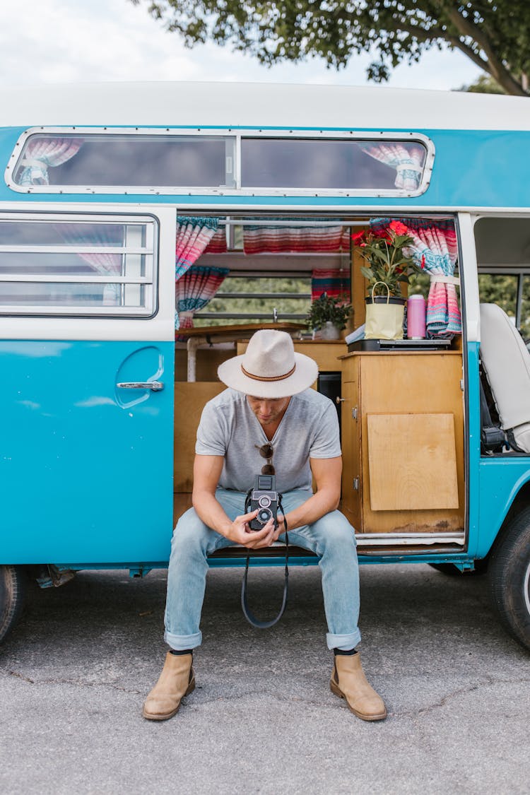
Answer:
[{"label": "cream fedora hat with brown band on the man's head", "polygon": [[246,351],[223,362],[220,380],[253,397],[290,397],[307,390],[319,374],[313,359],[295,353],[286,332],[263,328],[250,338]]}]

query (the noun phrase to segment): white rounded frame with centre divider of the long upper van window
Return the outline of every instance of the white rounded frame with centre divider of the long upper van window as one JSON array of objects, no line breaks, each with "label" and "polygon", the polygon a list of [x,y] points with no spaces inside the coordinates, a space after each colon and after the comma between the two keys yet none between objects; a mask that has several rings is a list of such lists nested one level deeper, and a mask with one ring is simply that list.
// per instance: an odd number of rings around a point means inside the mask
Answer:
[{"label": "white rounded frame with centre divider of the long upper van window", "polygon": [[[168,186],[156,185],[146,188],[145,185],[19,185],[14,182],[14,173],[17,170],[17,164],[20,160],[22,149],[28,138],[32,135],[58,135],[61,137],[68,136],[68,134],[75,134],[76,136],[89,138],[90,136],[101,135],[136,135],[141,136],[174,136],[179,137],[207,137],[207,138],[233,138],[234,139],[234,160],[232,162],[232,174],[234,178],[234,188],[219,188],[219,187],[201,187],[189,185]],[[273,139],[313,139],[323,138],[324,140],[344,140],[344,141],[363,141],[377,145],[380,142],[396,142],[396,143],[417,143],[425,149],[425,162],[424,170],[421,176],[420,184],[415,191],[406,191],[398,188],[385,188],[385,189],[370,189],[370,188],[285,188],[278,186],[276,188],[261,188],[260,186],[242,188],[241,179],[241,165],[242,154],[241,144],[243,138],[273,138]],[[6,166],[4,179],[6,185],[10,190],[17,193],[30,193],[30,194],[114,194],[114,195],[127,195],[133,194],[137,196],[159,196],[160,194],[166,196],[182,196],[188,194],[189,196],[343,196],[343,197],[356,197],[366,196],[372,198],[412,198],[414,196],[421,196],[429,187],[431,182],[431,174],[435,161],[435,145],[426,135],[417,132],[397,132],[390,133],[384,130],[291,130],[291,129],[252,129],[252,128],[238,128],[231,127],[224,128],[202,128],[202,127],[164,127],[164,128],[150,128],[150,127],[78,127],[78,126],[42,126],[42,127],[29,127],[18,138],[15,143],[14,150],[10,155],[10,160]]]}]

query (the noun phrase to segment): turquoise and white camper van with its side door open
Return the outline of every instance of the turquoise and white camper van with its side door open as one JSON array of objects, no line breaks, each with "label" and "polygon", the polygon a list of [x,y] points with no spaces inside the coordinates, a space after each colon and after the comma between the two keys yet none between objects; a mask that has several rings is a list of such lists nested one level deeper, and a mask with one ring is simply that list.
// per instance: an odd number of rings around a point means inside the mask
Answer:
[{"label": "turquoise and white camper van with its side door open", "polygon": [[[486,572],[530,648],[529,149],[528,100],[503,96],[2,91],[0,638],[28,579],[167,566],[217,366],[266,325],[337,401],[361,562]],[[425,339],[308,335],[323,293],[362,326],[356,241],[393,222],[423,263]]]}]

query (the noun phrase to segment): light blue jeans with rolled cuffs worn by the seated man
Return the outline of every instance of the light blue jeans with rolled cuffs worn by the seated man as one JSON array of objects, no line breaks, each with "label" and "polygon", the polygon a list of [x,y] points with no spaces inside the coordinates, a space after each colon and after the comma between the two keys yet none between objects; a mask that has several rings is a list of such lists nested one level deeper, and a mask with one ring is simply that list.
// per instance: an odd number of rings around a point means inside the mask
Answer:
[{"label": "light blue jeans with rolled cuffs worn by the seated man", "polygon": [[[245,497],[240,491],[217,489],[215,492],[215,498],[231,520],[245,512]],[[310,491],[288,491],[282,498],[285,513],[309,497]],[[357,626],[359,572],[353,527],[338,510],[333,510],[312,525],[288,530],[288,536],[291,544],[310,549],[320,558],[328,648],[352,649],[361,640]],[[284,535],[280,539],[284,541]],[[207,555],[232,544],[207,527],[194,508],[187,510],[177,522],[169,559],[164,619],[164,640],[172,649],[194,649],[200,645],[203,636],[199,622],[206,588]]]}]

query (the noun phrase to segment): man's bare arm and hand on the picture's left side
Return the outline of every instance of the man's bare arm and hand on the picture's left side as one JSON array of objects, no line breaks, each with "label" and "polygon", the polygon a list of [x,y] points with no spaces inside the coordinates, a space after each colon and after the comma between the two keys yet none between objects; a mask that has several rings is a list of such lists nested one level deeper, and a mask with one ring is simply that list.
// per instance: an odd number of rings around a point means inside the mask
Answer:
[{"label": "man's bare arm and hand on the picture's left side", "polygon": [[234,541],[234,544],[242,544],[249,549],[270,546],[277,540],[279,534],[274,530],[272,519],[263,529],[250,530],[249,522],[257,515],[257,510],[251,514],[242,514],[231,522],[221,504],[215,499],[215,489],[221,477],[223,461],[222,456],[195,456],[191,499],[196,513],[205,525]]}]

